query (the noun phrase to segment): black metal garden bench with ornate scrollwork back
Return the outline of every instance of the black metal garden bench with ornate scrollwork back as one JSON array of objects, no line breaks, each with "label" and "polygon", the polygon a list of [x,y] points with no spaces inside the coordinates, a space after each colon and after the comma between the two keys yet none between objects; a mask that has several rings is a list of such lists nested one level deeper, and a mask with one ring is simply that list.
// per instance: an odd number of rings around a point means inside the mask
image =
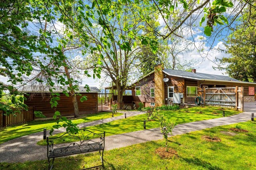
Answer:
[{"label": "black metal garden bench with ornate scrollwork back", "polygon": [[[93,133],[86,129],[79,129],[79,133],[72,134],[70,132],[66,132],[60,137],[55,137],[55,138],[46,137],[46,133],[44,132],[44,139],[46,139],[46,143],[47,143],[48,170],[52,169],[54,159],[57,157],[88,153],[88,152],[94,152],[94,151],[99,151],[100,160],[102,164],[98,166],[93,166],[90,168],[96,168],[99,166],[102,166],[104,168],[103,152],[104,152],[104,145],[105,145],[105,132]],[[75,142],[65,143],[70,139],[75,140]],[[54,144],[54,141],[56,140],[58,140],[58,142],[60,142],[61,140],[62,143]],[[90,168],[85,168],[83,170],[90,169]]]}]

